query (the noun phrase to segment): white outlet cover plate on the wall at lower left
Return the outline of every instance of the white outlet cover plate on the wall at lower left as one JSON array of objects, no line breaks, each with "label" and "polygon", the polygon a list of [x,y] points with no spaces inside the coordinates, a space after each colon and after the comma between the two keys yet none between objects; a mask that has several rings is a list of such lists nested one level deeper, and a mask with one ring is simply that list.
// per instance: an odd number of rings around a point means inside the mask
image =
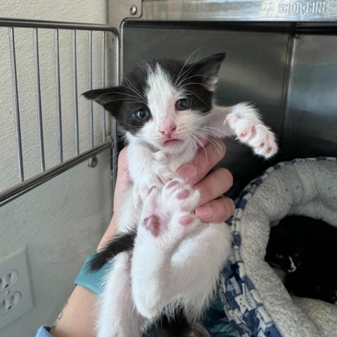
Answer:
[{"label": "white outlet cover plate on the wall at lower left", "polygon": [[[33,308],[32,287],[30,285],[27,252],[25,248],[15,251],[4,258],[0,257],[0,278],[4,277],[6,282],[8,282],[7,275],[8,272],[12,270],[14,270],[15,274],[13,284],[9,282],[10,286],[7,286],[6,289],[1,289],[0,303],[4,302],[8,296],[11,296],[11,293],[15,293],[16,291],[21,294],[21,300],[13,310],[0,314],[0,329]],[[17,272],[17,275],[15,272]]]}]

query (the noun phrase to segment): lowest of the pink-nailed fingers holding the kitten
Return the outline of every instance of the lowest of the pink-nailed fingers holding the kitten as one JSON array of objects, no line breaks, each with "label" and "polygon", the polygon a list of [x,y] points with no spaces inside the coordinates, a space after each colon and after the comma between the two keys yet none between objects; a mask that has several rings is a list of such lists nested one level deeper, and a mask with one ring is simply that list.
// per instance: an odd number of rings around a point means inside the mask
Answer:
[{"label": "lowest of the pink-nailed fingers holding the kitten", "polygon": [[204,223],[222,223],[228,220],[234,211],[234,201],[227,197],[220,197],[198,206],[195,209],[195,215]]}]

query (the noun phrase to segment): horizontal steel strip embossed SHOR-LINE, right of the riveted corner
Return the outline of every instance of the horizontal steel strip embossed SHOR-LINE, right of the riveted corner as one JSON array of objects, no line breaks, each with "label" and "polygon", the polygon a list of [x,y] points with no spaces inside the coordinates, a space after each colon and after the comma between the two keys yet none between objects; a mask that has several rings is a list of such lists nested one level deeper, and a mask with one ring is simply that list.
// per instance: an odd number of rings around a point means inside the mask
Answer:
[{"label": "horizontal steel strip embossed SHOR-LINE, right of the riveted corner", "polygon": [[142,20],[324,22],[336,15],[336,0],[153,0],[143,1]]}]

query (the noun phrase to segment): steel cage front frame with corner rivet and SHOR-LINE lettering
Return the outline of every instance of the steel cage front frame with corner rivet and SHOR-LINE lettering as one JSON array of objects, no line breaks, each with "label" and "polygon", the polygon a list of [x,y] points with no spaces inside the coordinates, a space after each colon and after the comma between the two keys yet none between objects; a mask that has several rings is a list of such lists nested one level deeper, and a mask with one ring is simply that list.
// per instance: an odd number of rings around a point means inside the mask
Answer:
[{"label": "steel cage front frame with corner rivet and SHOR-LINE lettering", "polygon": [[[293,22],[301,32],[315,31],[307,22],[337,22],[337,0],[109,0],[109,24],[123,41],[124,22]],[[324,27],[325,32],[329,27]],[[336,27],[333,27],[336,32]],[[123,74],[123,43],[119,61]]]}]

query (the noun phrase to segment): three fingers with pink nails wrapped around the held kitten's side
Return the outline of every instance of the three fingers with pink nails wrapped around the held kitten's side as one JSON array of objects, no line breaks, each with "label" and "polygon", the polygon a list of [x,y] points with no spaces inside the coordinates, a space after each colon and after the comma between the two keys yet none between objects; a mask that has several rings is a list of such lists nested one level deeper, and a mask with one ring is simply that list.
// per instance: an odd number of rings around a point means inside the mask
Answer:
[{"label": "three fingers with pink nails wrapped around the held kitten's side", "polygon": [[205,223],[220,223],[234,214],[234,201],[223,197],[223,193],[232,187],[232,174],[223,168],[209,173],[213,166],[223,159],[225,152],[225,143],[219,139],[212,139],[197,152],[190,164],[181,166],[177,171],[178,177],[199,190],[200,201],[195,214]]}]

